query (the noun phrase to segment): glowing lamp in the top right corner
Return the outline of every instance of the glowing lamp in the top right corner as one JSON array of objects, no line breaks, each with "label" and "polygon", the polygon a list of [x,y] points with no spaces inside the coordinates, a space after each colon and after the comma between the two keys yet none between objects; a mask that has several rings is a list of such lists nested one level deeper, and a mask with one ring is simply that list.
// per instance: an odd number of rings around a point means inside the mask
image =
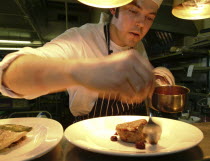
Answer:
[{"label": "glowing lamp in the top right corner", "polygon": [[172,14],[188,20],[210,18],[210,0],[174,0]]}]

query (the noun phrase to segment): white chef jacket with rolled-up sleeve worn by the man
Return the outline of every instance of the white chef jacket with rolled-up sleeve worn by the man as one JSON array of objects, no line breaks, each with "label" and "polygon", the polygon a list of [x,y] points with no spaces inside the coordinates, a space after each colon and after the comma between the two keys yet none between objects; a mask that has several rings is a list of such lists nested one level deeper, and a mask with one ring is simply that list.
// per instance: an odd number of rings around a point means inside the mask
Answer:
[{"label": "white chef jacket with rolled-up sleeve worn by the man", "polygon": [[[114,42],[110,42],[110,49],[113,53],[129,49],[128,47],[120,47]],[[145,48],[142,42],[139,42],[135,47],[144,57],[147,57]],[[85,24],[79,28],[74,27],[63,34],[46,43],[39,48],[25,47],[17,52],[8,54],[0,62],[0,80],[2,80],[2,72],[9,64],[18,56],[24,54],[35,54],[41,57],[59,57],[64,59],[71,58],[97,58],[108,55],[107,44],[104,35],[104,23],[100,24]],[[85,79],[85,78],[84,78]],[[2,82],[2,81],[1,81]],[[69,108],[74,116],[88,114],[95,101],[98,98],[98,93],[88,90],[85,87],[77,86],[67,88],[69,93]],[[48,94],[47,91],[40,95],[19,96],[12,90],[6,88],[0,83],[0,92],[2,95],[13,98],[33,99],[41,95]]]}]

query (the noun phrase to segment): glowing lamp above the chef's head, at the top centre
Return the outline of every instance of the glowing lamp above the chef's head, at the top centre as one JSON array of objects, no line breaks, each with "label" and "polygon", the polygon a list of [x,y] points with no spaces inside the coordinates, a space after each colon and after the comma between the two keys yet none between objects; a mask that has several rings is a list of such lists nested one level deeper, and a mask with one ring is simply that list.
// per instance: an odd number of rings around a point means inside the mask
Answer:
[{"label": "glowing lamp above the chef's head, at the top centre", "polygon": [[78,0],[86,5],[98,8],[115,8],[126,5],[133,0]]}]

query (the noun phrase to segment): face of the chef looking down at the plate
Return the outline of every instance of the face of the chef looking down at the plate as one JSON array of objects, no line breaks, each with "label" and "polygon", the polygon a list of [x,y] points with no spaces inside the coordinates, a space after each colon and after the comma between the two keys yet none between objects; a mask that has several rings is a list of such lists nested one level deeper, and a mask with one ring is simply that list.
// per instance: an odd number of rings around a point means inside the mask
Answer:
[{"label": "face of the chef looking down at the plate", "polygon": [[152,0],[134,0],[128,5],[110,9],[111,40],[119,46],[134,47],[148,32],[155,19],[158,6]]}]

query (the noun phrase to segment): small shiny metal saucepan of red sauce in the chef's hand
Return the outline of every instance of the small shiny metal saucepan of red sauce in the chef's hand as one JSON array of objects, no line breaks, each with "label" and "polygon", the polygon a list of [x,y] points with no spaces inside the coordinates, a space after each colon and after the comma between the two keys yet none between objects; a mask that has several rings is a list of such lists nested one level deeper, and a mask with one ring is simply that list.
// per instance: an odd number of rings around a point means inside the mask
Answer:
[{"label": "small shiny metal saucepan of red sauce in the chef's hand", "polygon": [[188,88],[179,85],[158,86],[152,96],[151,108],[166,113],[182,112],[189,92]]}]

